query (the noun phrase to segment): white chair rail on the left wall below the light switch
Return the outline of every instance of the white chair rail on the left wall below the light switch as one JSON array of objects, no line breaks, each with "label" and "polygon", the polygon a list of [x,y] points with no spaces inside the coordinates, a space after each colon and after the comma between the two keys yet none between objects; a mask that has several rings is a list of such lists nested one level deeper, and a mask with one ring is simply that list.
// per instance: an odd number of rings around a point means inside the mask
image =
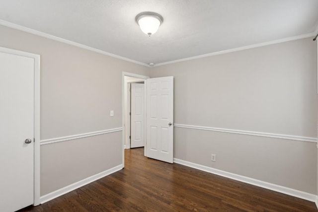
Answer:
[{"label": "white chair rail on the left wall below the light switch", "polygon": [[73,135],[73,136],[45,139],[45,140],[41,140],[40,144],[45,145],[45,144],[50,144],[50,143],[71,141],[71,140],[75,140],[75,139],[82,139],[82,138],[91,137],[91,136],[98,136],[98,135],[103,135],[103,134],[107,134],[107,133],[119,132],[122,130],[123,130],[122,128],[114,128],[114,129],[108,129],[108,130],[102,130],[102,131],[96,131],[96,132],[90,132],[90,133],[83,133],[83,134],[78,134],[78,135]]}]

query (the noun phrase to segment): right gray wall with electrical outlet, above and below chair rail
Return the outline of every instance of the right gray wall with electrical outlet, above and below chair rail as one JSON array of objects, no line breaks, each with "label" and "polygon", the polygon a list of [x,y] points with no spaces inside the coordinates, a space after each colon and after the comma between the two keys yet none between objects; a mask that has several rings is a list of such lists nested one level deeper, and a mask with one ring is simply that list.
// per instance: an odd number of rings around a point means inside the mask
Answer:
[{"label": "right gray wall with electrical outlet, above and below chair rail", "polygon": [[[311,38],[159,66],[150,75],[175,77],[175,124],[317,136]],[[313,142],[184,128],[175,128],[174,142],[175,158],[317,194]]]}]

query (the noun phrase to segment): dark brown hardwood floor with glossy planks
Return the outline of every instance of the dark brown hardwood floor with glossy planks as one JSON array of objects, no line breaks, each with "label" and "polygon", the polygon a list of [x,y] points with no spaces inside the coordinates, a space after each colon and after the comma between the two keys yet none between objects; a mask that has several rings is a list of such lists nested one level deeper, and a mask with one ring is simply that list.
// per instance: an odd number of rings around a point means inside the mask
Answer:
[{"label": "dark brown hardwood floor with glossy planks", "polygon": [[125,168],[19,212],[316,212],[315,203],[125,150]]}]

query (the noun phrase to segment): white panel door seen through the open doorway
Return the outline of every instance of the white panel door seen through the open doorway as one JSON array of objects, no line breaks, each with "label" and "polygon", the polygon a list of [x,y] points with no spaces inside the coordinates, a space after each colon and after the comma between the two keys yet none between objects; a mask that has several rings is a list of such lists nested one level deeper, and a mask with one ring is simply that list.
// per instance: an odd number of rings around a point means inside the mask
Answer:
[{"label": "white panel door seen through the open doorway", "polygon": [[145,84],[131,83],[131,148],[145,145],[144,87]]}]

